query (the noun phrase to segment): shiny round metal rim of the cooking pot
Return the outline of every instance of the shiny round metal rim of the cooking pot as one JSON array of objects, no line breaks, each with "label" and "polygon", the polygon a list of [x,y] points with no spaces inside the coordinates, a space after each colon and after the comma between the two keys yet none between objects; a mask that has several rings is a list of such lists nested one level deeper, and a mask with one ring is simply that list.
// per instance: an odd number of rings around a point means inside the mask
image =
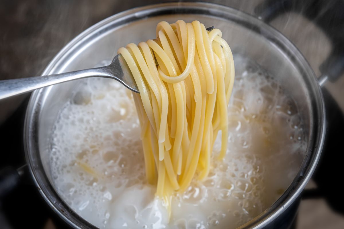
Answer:
[{"label": "shiny round metal rim of the cooking pot", "polygon": [[[58,66],[63,64],[65,59],[68,59],[75,54],[73,51],[78,50],[78,46],[83,42],[87,41],[90,37],[96,36],[97,31],[104,29],[105,27],[110,26],[111,24],[116,24],[118,22],[122,22],[129,20],[133,16],[137,17],[137,20],[142,19],[142,17],[146,17],[151,15],[153,12],[161,12],[163,10],[171,10],[178,8],[181,12],[183,9],[194,9],[199,8],[205,12],[210,12],[211,14],[217,13],[217,15],[224,15],[224,14],[231,14],[231,17],[237,18],[237,20],[247,20],[251,23],[254,23],[259,28],[268,31],[270,34],[273,35],[273,39],[275,42],[278,42],[280,45],[283,45],[288,48],[287,51],[291,52],[294,58],[298,60],[298,62],[302,65],[300,68],[304,69],[304,74],[310,76],[310,81],[308,82],[308,90],[312,90],[312,95],[315,95],[316,98],[311,98],[312,106],[311,108],[315,108],[312,110],[313,112],[313,127],[311,126],[310,132],[312,133],[311,139],[309,139],[307,153],[305,154],[305,158],[302,162],[301,168],[298,174],[295,176],[293,182],[287,188],[287,190],[282,194],[278,200],[275,201],[268,209],[263,211],[254,219],[247,222],[245,225],[240,226],[240,229],[244,228],[263,228],[267,226],[270,222],[276,219],[279,215],[282,214],[301,194],[302,190],[304,189],[305,185],[308,183],[309,179],[311,178],[315,167],[319,161],[321,151],[324,144],[325,138],[325,130],[326,130],[326,114],[325,114],[325,107],[324,107],[324,99],[318,84],[317,78],[310,67],[307,60],[303,57],[301,52],[295,47],[283,34],[281,34],[276,29],[272,28],[270,25],[260,21],[259,19],[246,14],[244,12],[238,11],[236,9],[222,6],[215,3],[205,3],[205,2],[171,2],[171,3],[160,3],[160,4],[152,4],[144,7],[137,7],[133,9],[129,9],[115,15],[112,15],[109,18],[106,18],[97,24],[91,26],[84,32],[80,33],[76,36],[71,42],[69,42],[66,46],[62,48],[60,52],[56,54],[56,56],[52,59],[52,61],[47,65],[42,75],[51,74],[56,70]],[[179,12],[179,13],[181,13]],[[185,11],[186,13],[186,11]],[[190,13],[190,12],[189,12]],[[235,14],[235,15],[233,15]],[[219,16],[218,16],[219,17]],[[131,22],[131,21],[130,21]],[[62,65],[64,66],[64,65]],[[59,68],[61,71],[63,67]],[[51,88],[51,87],[49,87]],[[69,208],[68,205],[64,203],[62,198],[58,196],[54,188],[49,182],[45,171],[43,169],[42,163],[40,161],[40,153],[38,148],[38,120],[37,114],[40,110],[40,104],[44,100],[44,96],[46,96],[45,90],[49,90],[49,88],[43,88],[39,90],[35,90],[30,98],[26,115],[25,115],[25,123],[24,123],[24,150],[25,150],[25,157],[26,161],[29,165],[29,170],[31,176],[34,180],[34,183],[47,202],[47,204],[61,217],[63,218],[70,226],[74,228],[97,228],[87,222],[85,219],[77,215],[73,210]],[[36,116],[34,115],[36,114]],[[314,137],[314,138],[312,138]],[[33,152],[33,153],[32,153]],[[33,154],[36,154],[33,156]],[[43,185],[42,185],[43,184]],[[51,193],[54,196],[50,195]],[[56,197],[55,197],[56,196]],[[58,201],[56,201],[56,198]],[[61,202],[61,203],[58,203]]]}]

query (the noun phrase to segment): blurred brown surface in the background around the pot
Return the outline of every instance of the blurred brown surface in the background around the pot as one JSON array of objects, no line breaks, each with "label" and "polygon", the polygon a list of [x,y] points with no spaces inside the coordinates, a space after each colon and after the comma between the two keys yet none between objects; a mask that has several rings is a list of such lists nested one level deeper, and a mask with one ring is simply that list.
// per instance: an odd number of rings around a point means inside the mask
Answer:
[{"label": "blurred brown surface in the background around the pot", "polygon": [[[2,0],[0,79],[40,75],[54,55],[89,26],[118,12],[160,2],[164,1]],[[262,0],[212,2],[254,14],[255,7]],[[311,21],[294,12],[281,14],[271,25],[300,49],[315,74],[320,76],[319,65],[332,48],[326,35]],[[344,77],[335,83],[326,83],[326,88],[344,111]],[[0,124],[27,96],[0,101]],[[46,228],[54,228],[50,221],[46,225]],[[301,202],[297,228],[344,228],[344,217],[333,212],[323,199],[305,200]]]}]

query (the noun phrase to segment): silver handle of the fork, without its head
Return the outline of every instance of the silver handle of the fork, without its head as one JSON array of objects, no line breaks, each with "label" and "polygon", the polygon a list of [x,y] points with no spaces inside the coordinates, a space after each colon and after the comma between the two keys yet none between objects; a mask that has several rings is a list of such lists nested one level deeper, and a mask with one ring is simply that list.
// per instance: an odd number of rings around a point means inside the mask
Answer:
[{"label": "silver handle of the fork, without its head", "polygon": [[34,76],[28,78],[0,80],[0,99],[20,95],[42,87],[87,77],[110,77],[108,66],[89,68],[74,72],[60,73],[49,76]]}]

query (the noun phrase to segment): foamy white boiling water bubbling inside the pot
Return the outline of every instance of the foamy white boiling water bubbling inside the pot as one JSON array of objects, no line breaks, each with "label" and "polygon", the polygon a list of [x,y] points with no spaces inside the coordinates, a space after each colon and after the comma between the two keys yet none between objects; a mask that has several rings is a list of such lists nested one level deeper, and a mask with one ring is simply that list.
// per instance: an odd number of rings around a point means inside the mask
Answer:
[{"label": "foamy white boiling water bubbling inside the pot", "polygon": [[235,61],[226,158],[173,197],[170,222],[146,182],[131,92],[115,80],[85,80],[61,110],[50,154],[57,192],[99,228],[236,228],[267,209],[297,174],[307,139],[280,85],[254,63]]}]

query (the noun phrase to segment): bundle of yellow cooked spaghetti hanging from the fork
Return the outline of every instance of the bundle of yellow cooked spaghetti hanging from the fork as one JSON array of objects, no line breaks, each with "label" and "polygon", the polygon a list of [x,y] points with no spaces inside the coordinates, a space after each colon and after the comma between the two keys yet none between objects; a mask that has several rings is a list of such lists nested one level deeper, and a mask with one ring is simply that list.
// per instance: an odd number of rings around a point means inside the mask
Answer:
[{"label": "bundle of yellow cooked spaghetti hanging from the fork", "polygon": [[[183,192],[211,166],[221,131],[218,158],[227,151],[227,106],[234,83],[232,51],[222,32],[199,21],[157,25],[157,39],[121,47],[137,83],[133,93],[141,123],[146,176],[170,209],[171,194]],[[158,65],[156,65],[157,61]]]}]

